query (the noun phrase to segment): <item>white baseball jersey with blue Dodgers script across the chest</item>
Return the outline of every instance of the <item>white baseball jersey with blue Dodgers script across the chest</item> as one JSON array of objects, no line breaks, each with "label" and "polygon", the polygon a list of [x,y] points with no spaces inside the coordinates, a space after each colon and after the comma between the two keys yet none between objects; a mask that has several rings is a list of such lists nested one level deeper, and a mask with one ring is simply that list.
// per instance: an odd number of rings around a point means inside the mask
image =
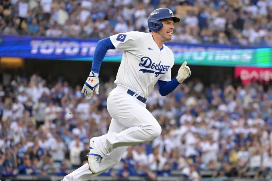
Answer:
[{"label": "white baseball jersey with blue Dodgers script across the chest", "polygon": [[151,33],[130,31],[110,36],[115,50],[123,50],[115,84],[127,86],[148,97],[160,79],[171,80],[174,65],[172,50],[155,43]]}]

